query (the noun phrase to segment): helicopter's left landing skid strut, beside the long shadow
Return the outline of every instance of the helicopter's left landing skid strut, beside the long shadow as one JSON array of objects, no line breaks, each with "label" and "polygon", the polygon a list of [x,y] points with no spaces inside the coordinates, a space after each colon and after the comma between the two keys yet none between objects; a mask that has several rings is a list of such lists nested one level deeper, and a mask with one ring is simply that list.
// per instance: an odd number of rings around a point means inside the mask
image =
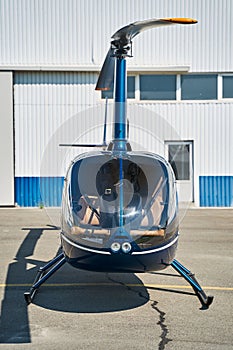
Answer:
[{"label": "helicopter's left landing skid strut, beside the long shadow", "polygon": [[[66,259],[64,257],[64,254],[61,253],[57,255],[55,258],[50,260],[46,265],[41,266],[39,268],[39,271],[36,275],[35,281],[33,282],[33,285],[31,286],[30,290],[28,292],[24,293],[25,300],[27,304],[29,305],[38,288],[49,278],[51,277],[62,265],[64,265],[66,262]],[[46,272],[48,269],[50,269],[48,272]]]}]

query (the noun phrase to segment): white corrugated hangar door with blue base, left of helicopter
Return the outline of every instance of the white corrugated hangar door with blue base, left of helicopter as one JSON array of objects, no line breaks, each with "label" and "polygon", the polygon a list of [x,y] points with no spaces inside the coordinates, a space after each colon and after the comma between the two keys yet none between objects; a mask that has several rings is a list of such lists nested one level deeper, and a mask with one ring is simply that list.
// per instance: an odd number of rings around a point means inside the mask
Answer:
[{"label": "white corrugated hangar door with blue base, left of helicopter", "polygon": [[[60,206],[67,150],[61,150],[59,143],[72,143],[72,133],[77,138],[88,128],[82,111],[95,104],[96,78],[95,73],[84,72],[14,74],[15,201],[19,206]],[[54,148],[45,168],[43,157],[51,143]]]}]

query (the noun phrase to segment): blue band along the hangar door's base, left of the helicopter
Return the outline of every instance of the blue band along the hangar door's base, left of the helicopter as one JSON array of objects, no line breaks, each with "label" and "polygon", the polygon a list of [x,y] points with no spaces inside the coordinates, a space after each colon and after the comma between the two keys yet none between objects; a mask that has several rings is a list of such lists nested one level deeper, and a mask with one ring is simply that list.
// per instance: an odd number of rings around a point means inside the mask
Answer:
[{"label": "blue band along the hangar door's base, left of the helicopter", "polygon": [[15,202],[22,207],[61,205],[64,177],[15,177]]}]

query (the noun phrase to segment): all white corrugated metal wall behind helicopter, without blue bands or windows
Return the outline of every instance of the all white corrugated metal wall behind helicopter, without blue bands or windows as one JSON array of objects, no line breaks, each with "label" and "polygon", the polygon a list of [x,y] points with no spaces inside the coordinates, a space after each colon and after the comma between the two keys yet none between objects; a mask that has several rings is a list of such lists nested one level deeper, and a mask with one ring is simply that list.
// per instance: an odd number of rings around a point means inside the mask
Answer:
[{"label": "all white corrugated metal wall behind helicopter, without blue bands or windows", "polygon": [[[199,21],[135,38],[134,58],[128,60],[132,71],[233,72],[231,0],[1,0],[0,6],[0,70],[14,71],[18,178],[63,176],[75,151],[58,149],[60,142],[100,141],[104,108],[94,91],[97,70],[111,35],[126,23],[171,16]],[[233,173],[232,108],[231,101],[134,101],[129,105],[131,139],[136,147],[140,143],[161,154],[166,140],[193,140],[198,204],[199,176]],[[47,161],[51,150],[56,156]]]}]

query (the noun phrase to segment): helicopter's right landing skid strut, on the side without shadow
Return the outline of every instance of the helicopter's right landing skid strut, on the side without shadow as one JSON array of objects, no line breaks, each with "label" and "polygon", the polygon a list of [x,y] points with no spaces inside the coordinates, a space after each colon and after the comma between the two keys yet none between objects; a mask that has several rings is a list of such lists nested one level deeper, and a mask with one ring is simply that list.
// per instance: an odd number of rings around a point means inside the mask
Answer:
[{"label": "helicopter's right landing skid strut, on the side without shadow", "polygon": [[202,309],[208,309],[210,304],[212,304],[214,297],[207,296],[204,290],[201,288],[200,284],[197,282],[195,275],[186,269],[179,261],[173,260],[171,266],[191,285],[196,296],[201,302]]}]

